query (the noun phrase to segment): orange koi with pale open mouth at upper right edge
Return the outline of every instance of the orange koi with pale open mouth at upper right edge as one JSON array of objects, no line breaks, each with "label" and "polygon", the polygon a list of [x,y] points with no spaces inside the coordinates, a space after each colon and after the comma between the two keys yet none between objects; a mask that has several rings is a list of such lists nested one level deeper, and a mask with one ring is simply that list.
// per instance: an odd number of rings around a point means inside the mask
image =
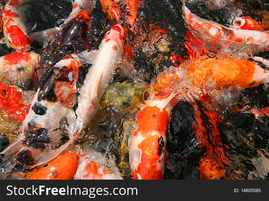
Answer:
[{"label": "orange koi with pale open mouth at upper right edge", "polygon": [[233,21],[232,28],[264,31],[262,26],[259,25],[258,22],[256,20],[253,20],[251,17],[235,18]]}]

